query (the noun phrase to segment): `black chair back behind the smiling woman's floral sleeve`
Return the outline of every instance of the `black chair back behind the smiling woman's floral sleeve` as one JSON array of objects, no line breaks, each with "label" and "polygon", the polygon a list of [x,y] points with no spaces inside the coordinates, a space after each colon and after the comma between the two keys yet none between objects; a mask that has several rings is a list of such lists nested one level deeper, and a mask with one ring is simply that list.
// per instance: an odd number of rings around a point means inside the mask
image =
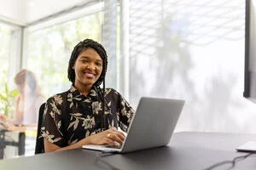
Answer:
[{"label": "black chair back behind the smiling woman's floral sleeve", "polygon": [[38,115],[38,133],[37,133],[37,140],[36,140],[36,148],[35,148],[35,154],[41,154],[44,153],[44,138],[39,138],[41,136],[41,126],[42,126],[42,120],[44,115],[44,107],[45,103],[40,106],[39,109],[39,115]]}]

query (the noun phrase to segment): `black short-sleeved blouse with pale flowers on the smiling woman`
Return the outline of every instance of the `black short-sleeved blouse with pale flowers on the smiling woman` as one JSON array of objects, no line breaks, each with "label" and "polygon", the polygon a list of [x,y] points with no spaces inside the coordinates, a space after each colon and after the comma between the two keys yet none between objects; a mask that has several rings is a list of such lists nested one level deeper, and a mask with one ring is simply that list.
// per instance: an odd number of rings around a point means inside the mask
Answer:
[{"label": "black short-sleeved blouse with pale flowers on the smiling woman", "polygon": [[[126,132],[134,114],[131,106],[114,89],[105,90],[105,116],[99,88],[91,88],[87,96],[73,86],[47,100],[41,134],[60,147],[75,144],[107,128],[120,127]],[[105,122],[105,123],[104,123]]]}]

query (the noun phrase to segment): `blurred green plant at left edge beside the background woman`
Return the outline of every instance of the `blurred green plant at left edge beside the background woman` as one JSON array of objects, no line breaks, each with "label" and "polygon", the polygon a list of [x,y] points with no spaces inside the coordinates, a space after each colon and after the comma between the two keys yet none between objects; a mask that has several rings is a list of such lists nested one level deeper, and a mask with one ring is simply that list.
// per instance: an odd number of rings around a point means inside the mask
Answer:
[{"label": "blurred green plant at left edge beside the background woman", "polygon": [[0,93],[0,113],[5,116],[13,116],[15,111],[15,97],[19,94],[17,89],[9,90],[7,83],[4,83],[4,91]]}]

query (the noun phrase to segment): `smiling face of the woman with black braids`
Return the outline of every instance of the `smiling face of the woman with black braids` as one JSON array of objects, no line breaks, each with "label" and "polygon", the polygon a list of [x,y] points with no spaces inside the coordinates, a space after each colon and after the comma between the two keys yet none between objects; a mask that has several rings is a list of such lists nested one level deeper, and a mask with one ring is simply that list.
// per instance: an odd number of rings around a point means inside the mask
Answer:
[{"label": "smiling face of the woman with black braids", "polygon": [[84,49],[73,65],[74,86],[78,89],[91,88],[102,74],[102,65],[102,58],[95,49]]}]

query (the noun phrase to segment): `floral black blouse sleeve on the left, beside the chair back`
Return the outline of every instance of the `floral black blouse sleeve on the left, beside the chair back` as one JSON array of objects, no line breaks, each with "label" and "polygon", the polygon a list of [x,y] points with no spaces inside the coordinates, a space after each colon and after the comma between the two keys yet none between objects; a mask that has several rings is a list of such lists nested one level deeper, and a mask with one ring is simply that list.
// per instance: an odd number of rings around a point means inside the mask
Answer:
[{"label": "floral black blouse sleeve on the left, beside the chair back", "polygon": [[63,147],[65,142],[61,131],[61,95],[55,95],[47,100],[41,127],[41,134],[50,143]]}]

